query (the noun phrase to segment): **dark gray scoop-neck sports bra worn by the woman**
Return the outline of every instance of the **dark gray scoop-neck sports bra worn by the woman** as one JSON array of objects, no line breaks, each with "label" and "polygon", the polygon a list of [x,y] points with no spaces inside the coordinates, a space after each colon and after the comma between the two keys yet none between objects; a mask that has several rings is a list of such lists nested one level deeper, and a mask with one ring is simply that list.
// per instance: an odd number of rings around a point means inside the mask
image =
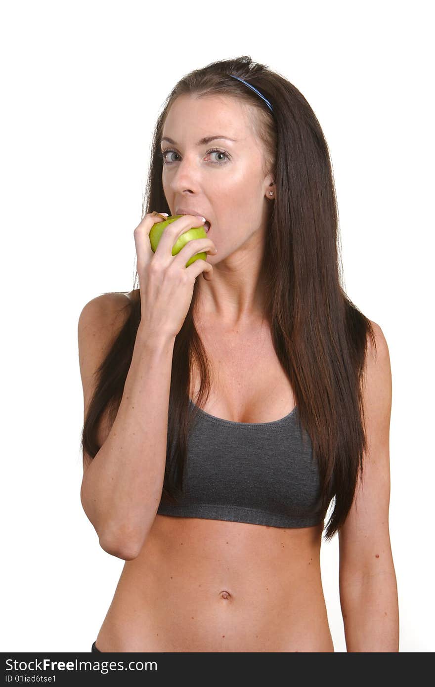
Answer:
[{"label": "dark gray scoop-neck sports bra worn by the woman", "polygon": [[177,505],[162,497],[157,514],[285,528],[324,521],[311,439],[297,416],[295,407],[274,422],[234,423],[198,407],[183,493]]}]

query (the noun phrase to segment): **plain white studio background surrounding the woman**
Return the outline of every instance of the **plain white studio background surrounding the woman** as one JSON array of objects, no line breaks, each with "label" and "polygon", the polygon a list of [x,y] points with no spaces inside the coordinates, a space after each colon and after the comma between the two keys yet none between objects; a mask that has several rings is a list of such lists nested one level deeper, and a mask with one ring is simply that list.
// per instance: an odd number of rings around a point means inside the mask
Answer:
[{"label": "plain white studio background surrounding the woman", "polygon": [[[166,95],[245,54],[302,92],[331,150],[346,291],[390,350],[400,651],[434,651],[431,5],[2,3],[1,651],[90,651],[107,613],[124,562],[80,504],[78,316],[133,289]],[[343,652],[337,537],[321,563]]]}]

